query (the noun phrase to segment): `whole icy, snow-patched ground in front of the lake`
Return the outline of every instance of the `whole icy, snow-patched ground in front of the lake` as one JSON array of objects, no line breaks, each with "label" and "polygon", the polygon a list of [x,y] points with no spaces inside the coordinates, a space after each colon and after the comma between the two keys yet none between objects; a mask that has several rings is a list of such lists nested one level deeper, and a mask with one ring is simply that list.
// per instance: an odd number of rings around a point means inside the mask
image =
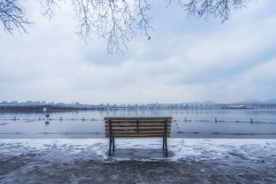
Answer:
[{"label": "whole icy, snow-patched ground in front of the lake", "polygon": [[0,183],[276,183],[275,139],[0,139]]}]

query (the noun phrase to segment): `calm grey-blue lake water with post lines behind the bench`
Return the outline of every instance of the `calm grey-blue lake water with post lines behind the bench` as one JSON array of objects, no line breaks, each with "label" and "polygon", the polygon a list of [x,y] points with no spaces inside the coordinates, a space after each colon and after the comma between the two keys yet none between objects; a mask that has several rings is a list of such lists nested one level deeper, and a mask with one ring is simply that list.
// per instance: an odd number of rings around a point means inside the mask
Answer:
[{"label": "calm grey-blue lake water with post lines behind the bench", "polygon": [[105,116],[172,116],[175,138],[276,139],[276,109],[0,111],[0,139],[103,138]]}]

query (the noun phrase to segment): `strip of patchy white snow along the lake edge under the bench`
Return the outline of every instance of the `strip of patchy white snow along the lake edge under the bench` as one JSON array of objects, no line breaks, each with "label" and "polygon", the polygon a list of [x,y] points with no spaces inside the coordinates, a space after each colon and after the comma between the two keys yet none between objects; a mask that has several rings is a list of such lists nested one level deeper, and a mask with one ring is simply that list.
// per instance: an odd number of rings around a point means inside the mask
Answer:
[{"label": "strip of patchy white snow along the lake edge under the bench", "polygon": [[[78,154],[88,150],[97,155],[95,159],[108,159],[109,139],[0,139],[0,154],[23,154],[27,150],[41,151],[51,147],[66,151],[70,149],[71,154]],[[115,139],[115,153],[119,150],[151,150],[159,152],[162,146],[161,139]],[[246,151],[244,151],[244,149]],[[212,159],[218,159],[228,152],[239,152],[246,154],[250,152],[263,152],[276,154],[275,139],[168,139],[168,150],[170,156],[145,157],[149,160],[161,159],[177,161],[188,156],[204,156],[208,154]],[[14,148],[14,149],[13,149]],[[112,160],[122,161],[119,154],[111,157]],[[139,160],[139,158],[135,158]],[[146,161],[147,159],[143,159]]]}]

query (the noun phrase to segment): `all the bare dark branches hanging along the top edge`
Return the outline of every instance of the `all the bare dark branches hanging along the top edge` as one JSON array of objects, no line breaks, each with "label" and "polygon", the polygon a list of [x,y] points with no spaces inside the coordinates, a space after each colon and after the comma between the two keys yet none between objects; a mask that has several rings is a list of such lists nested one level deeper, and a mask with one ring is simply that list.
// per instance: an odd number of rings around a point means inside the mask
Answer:
[{"label": "all the bare dark branches hanging along the top edge", "polygon": [[[43,15],[52,19],[53,11],[61,2],[69,1],[75,10],[79,24],[77,34],[88,42],[92,34],[107,43],[108,54],[124,53],[127,43],[137,32],[150,39],[150,19],[147,12],[152,8],[148,0],[39,0],[45,8]],[[221,22],[230,16],[230,10],[243,8],[250,0],[166,0],[168,6],[176,4],[186,10],[188,16],[219,17]],[[6,32],[27,32],[32,25],[19,0],[0,0],[0,21]]]}]

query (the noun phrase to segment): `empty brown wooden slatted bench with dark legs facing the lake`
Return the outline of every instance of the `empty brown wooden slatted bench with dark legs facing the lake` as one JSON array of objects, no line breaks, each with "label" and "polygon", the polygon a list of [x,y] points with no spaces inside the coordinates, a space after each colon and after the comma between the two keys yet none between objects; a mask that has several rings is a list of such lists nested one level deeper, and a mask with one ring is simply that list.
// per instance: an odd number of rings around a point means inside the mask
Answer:
[{"label": "empty brown wooden slatted bench with dark legs facing the lake", "polygon": [[109,152],[115,151],[115,137],[163,137],[163,150],[168,156],[172,117],[105,117],[105,133],[109,137]]}]

